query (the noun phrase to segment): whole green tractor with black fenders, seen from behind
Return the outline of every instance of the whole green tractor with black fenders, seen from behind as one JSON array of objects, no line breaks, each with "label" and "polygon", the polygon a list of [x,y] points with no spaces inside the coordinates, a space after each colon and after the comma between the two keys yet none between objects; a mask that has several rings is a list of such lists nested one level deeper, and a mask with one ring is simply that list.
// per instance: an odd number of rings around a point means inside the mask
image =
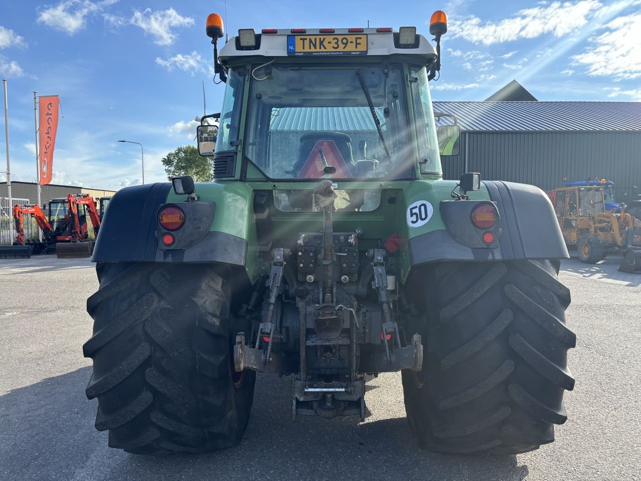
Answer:
[{"label": "whole green tractor with black fenders, seen from behind", "polygon": [[233,446],[257,372],[290,376],[298,422],[363,421],[366,380],[397,371],[426,450],[551,443],[574,387],[567,249],[541,190],[443,180],[445,14],[436,48],[413,27],[245,29],[219,52],[221,17],[206,30],[226,82],[215,151],[199,146],[215,180],[120,190],[94,249],[83,350],[109,445]]}]

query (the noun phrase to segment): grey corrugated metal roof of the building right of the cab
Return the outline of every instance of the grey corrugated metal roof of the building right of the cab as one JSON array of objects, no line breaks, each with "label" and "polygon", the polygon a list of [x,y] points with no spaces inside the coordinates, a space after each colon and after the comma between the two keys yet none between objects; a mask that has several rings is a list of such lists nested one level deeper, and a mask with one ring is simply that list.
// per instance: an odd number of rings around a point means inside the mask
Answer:
[{"label": "grey corrugated metal roof of the building right of the cab", "polygon": [[434,110],[456,115],[466,131],[641,130],[641,102],[435,101]]}]

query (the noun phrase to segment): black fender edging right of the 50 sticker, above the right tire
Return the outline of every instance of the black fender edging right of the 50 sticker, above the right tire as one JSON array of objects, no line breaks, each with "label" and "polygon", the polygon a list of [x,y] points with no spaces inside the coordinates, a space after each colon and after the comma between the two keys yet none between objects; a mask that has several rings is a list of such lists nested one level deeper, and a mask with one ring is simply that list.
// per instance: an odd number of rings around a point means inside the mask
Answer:
[{"label": "black fender edging right of the 50 sticker, above the right tire", "polygon": [[[554,207],[543,190],[533,185],[483,181],[499,211],[499,240],[487,248],[478,247],[478,235],[460,230],[434,230],[409,241],[412,266],[443,260],[523,260],[569,258]],[[444,202],[451,201],[442,201]],[[483,202],[483,201],[479,201]],[[486,201],[487,202],[487,201]],[[463,219],[462,219],[463,220]],[[465,219],[467,220],[467,219]],[[456,237],[455,240],[454,237]]]}]

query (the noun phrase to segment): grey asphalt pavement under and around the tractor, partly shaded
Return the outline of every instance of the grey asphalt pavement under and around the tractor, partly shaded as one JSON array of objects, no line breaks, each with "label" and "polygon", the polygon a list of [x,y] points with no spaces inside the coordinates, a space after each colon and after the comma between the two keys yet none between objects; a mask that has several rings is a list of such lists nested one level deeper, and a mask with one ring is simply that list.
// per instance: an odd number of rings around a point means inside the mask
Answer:
[{"label": "grey asphalt pavement under and around the tractor, partly shaded", "polygon": [[641,466],[641,275],[613,257],[563,262],[577,335],[576,387],[556,442],[517,456],[421,451],[405,419],[399,374],[367,384],[370,414],[330,421],[290,416],[287,378],[259,375],[240,445],[207,455],[142,457],[107,447],[85,386],[97,289],[86,259],[0,260],[2,480],[637,480]]}]

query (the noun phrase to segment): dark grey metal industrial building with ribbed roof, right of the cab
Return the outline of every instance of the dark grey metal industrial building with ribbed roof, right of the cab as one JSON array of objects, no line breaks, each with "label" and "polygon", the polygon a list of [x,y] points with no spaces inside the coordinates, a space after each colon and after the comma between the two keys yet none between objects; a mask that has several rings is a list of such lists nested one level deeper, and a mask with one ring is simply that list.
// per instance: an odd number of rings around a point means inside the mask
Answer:
[{"label": "dark grey metal industrial building with ribbed roof, right of the cab", "polygon": [[434,110],[462,130],[459,154],[443,158],[446,179],[479,172],[552,190],[563,178],[606,178],[619,202],[641,193],[641,102],[537,101],[512,81],[487,101],[435,101]]}]

